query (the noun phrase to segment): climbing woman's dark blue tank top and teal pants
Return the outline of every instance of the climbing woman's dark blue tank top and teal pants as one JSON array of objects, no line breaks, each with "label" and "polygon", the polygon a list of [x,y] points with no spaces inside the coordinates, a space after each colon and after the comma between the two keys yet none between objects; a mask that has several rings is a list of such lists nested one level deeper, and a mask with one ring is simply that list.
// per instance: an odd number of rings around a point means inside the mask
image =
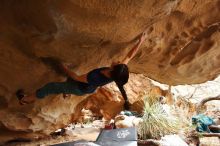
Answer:
[{"label": "climbing woman's dark blue tank top and teal pants", "polygon": [[90,71],[87,75],[88,83],[79,82],[70,78],[66,82],[48,83],[36,91],[36,96],[38,98],[44,98],[49,94],[63,93],[81,96],[84,94],[93,93],[97,87],[106,85],[113,81],[101,73],[101,71],[105,69],[107,69],[107,67],[102,67]]}]

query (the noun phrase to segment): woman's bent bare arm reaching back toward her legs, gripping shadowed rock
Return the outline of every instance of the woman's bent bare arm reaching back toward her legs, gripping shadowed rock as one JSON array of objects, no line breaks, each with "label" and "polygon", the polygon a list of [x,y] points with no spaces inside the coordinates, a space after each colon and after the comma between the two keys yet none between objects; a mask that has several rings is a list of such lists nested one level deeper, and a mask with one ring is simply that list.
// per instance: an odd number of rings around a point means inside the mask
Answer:
[{"label": "woman's bent bare arm reaching back toward her legs, gripping shadowed rock", "polygon": [[76,81],[87,83],[87,74],[79,76],[76,73],[72,72],[66,65],[61,64],[61,67],[62,67],[63,71],[72,79],[74,79]]}]

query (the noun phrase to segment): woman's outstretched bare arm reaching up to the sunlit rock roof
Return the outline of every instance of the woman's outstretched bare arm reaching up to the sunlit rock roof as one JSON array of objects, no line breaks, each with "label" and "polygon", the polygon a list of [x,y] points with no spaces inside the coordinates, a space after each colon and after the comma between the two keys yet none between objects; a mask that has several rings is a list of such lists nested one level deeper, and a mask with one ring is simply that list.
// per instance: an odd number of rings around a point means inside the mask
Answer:
[{"label": "woman's outstretched bare arm reaching up to the sunlit rock roof", "polygon": [[135,54],[138,52],[141,44],[146,38],[145,32],[142,33],[140,39],[138,40],[138,43],[128,52],[127,56],[122,60],[121,63],[128,64],[128,62],[135,56]]}]

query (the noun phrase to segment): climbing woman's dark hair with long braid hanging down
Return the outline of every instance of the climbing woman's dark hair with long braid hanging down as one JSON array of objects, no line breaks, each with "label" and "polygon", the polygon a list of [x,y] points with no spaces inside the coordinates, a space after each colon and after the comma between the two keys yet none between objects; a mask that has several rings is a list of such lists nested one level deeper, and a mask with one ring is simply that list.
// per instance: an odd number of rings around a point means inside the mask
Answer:
[{"label": "climbing woman's dark hair with long braid hanging down", "polygon": [[123,85],[128,82],[128,78],[129,78],[128,66],[126,64],[114,65],[111,71],[111,78],[115,81],[124,100],[126,101],[128,98]]}]

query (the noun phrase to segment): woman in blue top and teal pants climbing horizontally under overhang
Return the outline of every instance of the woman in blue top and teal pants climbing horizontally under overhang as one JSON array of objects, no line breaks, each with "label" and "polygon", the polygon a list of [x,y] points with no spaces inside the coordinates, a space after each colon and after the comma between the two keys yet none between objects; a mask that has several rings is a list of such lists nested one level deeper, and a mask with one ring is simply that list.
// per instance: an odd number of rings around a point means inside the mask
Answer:
[{"label": "woman in blue top and teal pants climbing horizontally under overhang", "polygon": [[97,87],[108,84],[115,81],[118,86],[124,100],[124,107],[128,110],[128,99],[123,85],[128,82],[129,72],[127,63],[134,57],[139,50],[141,44],[145,40],[146,35],[142,33],[136,45],[129,51],[127,56],[122,62],[112,63],[110,67],[102,67],[94,69],[87,74],[78,76],[74,72],[70,71],[68,67],[62,63],[61,68],[68,75],[66,82],[51,82],[38,89],[34,94],[26,96],[22,89],[16,92],[16,96],[21,105],[34,102],[36,99],[42,99],[50,94],[74,94],[82,96],[85,94],[93,93]]}]

